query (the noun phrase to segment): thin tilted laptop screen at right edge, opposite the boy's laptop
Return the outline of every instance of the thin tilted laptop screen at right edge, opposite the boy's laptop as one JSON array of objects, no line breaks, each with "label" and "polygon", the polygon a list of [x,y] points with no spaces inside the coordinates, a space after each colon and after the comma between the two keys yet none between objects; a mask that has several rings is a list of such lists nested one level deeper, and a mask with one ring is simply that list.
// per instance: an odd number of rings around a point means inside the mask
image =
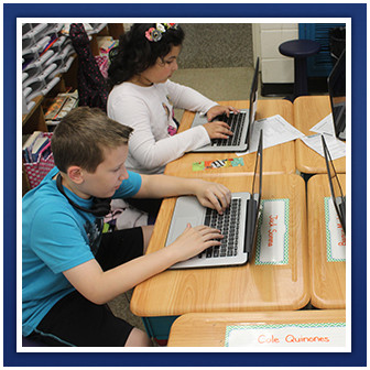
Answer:
[{"label": "thin tilted laptop screen at right edge, opposite the boy's laptop", "polygon": [[323,150],[324,150],[327,174],[329,177],[331,199],[333,199],[336,213],[338,215],[340,225],[346,233],[346,196],[342,195],[339,178],[337,176],[337,172],[335,170],[335,166],[334,166],[334,163],[330,156],[330,152],[326,145],[324,135],[322,135],[322,142],[323,142]]}]

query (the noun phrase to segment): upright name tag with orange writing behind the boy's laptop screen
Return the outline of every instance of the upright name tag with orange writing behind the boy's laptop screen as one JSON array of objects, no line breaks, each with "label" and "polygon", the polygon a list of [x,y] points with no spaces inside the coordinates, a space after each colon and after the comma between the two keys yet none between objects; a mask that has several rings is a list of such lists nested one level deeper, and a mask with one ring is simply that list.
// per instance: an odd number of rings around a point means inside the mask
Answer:
[{"label": "upright name tag with orange writing behind the boy's laptop screen", "polygon": [[289,199],[262,199],[254,264],[289,263]]}]

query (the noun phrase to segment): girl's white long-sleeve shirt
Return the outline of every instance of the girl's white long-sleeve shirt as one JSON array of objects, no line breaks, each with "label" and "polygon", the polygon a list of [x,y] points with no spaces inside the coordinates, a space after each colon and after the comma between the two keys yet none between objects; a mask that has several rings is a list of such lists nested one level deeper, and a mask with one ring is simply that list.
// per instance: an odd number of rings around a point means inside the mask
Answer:
[{"label": "girl's white long-sleeve shirt", "polygon": [[174,123],[174,108],[207,112],[217,102],[196,90],[167,80],[141,87],[122,83],[108,97],[108,116],[133,128],[129,141],[127,168],[143,173],[162,173],[165,164],[184,153],[209,144],[203,126],[170,135]]}]

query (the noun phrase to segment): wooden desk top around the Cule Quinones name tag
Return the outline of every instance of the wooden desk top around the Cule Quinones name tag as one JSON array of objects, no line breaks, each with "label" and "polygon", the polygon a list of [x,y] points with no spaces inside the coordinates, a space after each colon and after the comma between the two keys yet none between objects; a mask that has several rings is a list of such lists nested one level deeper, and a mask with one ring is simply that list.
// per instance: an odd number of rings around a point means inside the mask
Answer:
[{"label": "wooden desk top around the Cule Quinones name tag", "polygon": [[345,309],[301,309],[258,313],[198,313],[179,316],[173,324],[168,347],[224,347],[229,325],[283,325],[345,323]]}]

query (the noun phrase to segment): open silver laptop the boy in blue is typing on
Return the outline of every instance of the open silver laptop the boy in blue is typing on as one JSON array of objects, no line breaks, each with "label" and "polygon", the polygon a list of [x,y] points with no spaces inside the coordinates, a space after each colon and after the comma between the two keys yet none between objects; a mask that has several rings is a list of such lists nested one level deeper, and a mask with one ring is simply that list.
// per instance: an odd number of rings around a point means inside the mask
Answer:
[{"label": "open silver laptop the boy in blue is typing on", "polygon": [[178,262],[170,269],[210,268],[244,264],[250,260],[255,244],[262,192],[262,130],[255,153],[252,193],[232,193],[230,207],[224,215],[203,207],[194,196],[177,198],[172,215],[165,246],[171,244],[184,232],[186,225],[207,225],[221,230],[221,246]]}]

